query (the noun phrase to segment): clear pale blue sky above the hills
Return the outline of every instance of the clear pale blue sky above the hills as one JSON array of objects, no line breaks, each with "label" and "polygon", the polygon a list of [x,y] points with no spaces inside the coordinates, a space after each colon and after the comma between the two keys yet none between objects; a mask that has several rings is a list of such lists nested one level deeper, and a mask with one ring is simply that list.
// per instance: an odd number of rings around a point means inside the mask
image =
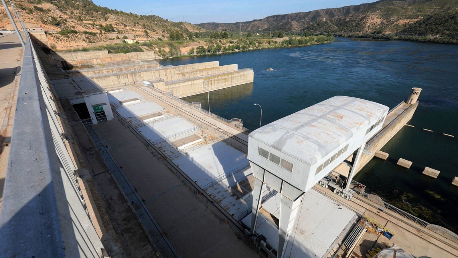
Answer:
[{"label": "clear pale blue sky above the hills", "polygon": [[96,5],[174,22],[244,22],[274,14],[359,5],[375,0],[93,0]]}]

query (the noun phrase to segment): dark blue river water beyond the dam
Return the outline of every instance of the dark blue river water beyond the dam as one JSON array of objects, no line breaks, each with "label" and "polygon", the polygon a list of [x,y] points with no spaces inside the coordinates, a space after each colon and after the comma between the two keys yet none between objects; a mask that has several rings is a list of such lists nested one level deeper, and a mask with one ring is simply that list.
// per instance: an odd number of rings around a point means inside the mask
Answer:
[{"label": "dark blue river water beyond the dam", "polygon": [[[331,44],[255,50],[234,54],[169,59],[163,65],[219,61],[253,68],[253,84],[210,92],[210,111],[241,118],[259,127],[335,95],[348,95],[394,107],[412,87],[423,88],[409,124],[382,149],[386,161],[373,159],[355,180],[367,191],[433,224],[458,232],[458,46],[398,41],[337,39]],[[262,72],[268,68],[275,71]],[[207,109],[207,94],[185,98]],[[422,130],[434,130],[433,133]],[[455,138],[442,133],[456,135]],[[402,157],[413,162],[396,166]],[[441,171],[437,179],[421,174],[425,166]]]}]

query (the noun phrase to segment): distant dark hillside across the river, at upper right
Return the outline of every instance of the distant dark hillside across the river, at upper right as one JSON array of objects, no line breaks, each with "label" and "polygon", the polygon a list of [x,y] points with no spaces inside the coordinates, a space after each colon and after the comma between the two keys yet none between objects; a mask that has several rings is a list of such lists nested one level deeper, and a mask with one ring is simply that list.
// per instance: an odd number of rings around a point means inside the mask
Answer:
[{"label": "distant dark hillside across the river, at upper right", "polygon": [[273,15],[235,23],[199,23],[211,30],[308,30],[337,34],[457,34],[457,0],[380,0],[308,12]]}]

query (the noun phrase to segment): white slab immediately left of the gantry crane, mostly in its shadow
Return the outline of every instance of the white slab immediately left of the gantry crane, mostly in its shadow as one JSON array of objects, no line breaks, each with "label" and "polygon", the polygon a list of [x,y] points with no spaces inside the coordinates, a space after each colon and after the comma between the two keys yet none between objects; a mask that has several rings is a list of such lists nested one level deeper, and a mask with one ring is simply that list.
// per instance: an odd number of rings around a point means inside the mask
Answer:
[{"label": "white slab immediately left of the gantry crane, mostly in its shadow", "polygon": [[218,175],[229,173],[248,163],[248,159],[242,152],[218,141],[178,157],[173,162],[196,181],[197,185],[203,187]]}]

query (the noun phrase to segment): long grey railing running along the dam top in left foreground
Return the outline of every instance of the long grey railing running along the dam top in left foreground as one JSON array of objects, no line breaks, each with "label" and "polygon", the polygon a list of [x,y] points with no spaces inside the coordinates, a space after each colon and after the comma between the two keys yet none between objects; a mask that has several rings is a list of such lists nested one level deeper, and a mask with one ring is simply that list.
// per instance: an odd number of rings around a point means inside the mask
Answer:
[{"label": "long grey railing running along the dam top in left foreground", "polygon": [[0,217],[2,257],[103,257],[65,120],[28,33]]}]

